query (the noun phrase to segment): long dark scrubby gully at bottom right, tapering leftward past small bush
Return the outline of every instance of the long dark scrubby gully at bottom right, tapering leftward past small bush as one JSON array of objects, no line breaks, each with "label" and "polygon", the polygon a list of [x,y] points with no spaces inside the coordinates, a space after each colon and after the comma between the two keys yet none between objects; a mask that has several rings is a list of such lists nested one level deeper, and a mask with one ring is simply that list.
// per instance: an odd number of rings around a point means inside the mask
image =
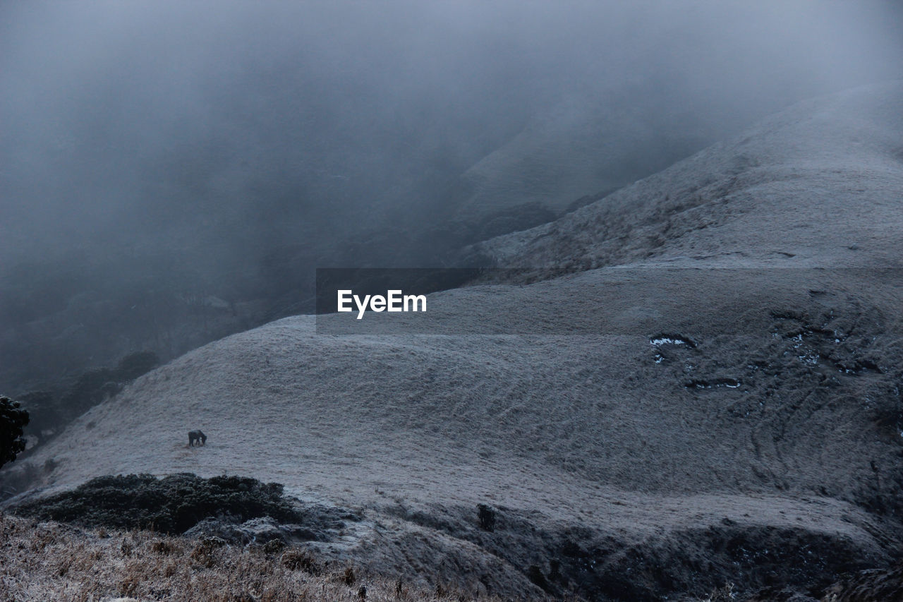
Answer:
[{"label": "long dark scrubby gully at bottom right, tapering leftward past small bush", "polygon": [[727,518],[637,541],[592,524],[536,522],[535,515],[512,508],[497,510],[494,531],[480,523],[479,508],[477,513],[440,505],[418,513],[399,510],[400,518],[506,561],[559,599],[705,599],[728,583],[736,597],[724,599],[746,599],[764,588],[821,597],[838,575],[887,566],[897,547],[888,540],[878,550],[841,533]]}]

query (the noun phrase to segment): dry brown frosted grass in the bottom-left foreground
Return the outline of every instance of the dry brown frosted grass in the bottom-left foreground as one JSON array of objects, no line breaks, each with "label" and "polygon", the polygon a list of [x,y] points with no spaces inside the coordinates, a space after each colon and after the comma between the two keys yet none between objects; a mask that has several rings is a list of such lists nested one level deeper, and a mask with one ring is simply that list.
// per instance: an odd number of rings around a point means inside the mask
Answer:
[{"label": "dry brown frosted grass in the bottom-left foreground", "polygon": [[[83,530],[0,513],[0,601],[101,602],[119,597],[188,602],[472,600],[427,592],[391,576],[325,563],[297,548],[227,545],[152,531]],[[489,600],[494,598],[481,597]]]}]

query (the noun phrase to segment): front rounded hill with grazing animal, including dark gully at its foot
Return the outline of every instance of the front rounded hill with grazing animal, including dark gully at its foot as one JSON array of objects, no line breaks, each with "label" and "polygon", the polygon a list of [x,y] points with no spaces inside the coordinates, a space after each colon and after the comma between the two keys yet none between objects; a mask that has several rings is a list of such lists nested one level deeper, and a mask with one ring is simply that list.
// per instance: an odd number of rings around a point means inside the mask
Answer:
[{"label": "front rounded hill with grazing animal, including dark gully at its foot", "polygon": [[[364,509],[345,541],[317,545],[507,595],[537,595],[527,569],[551,560],[554,588],[637,599],[761,585],[787,567],[781,578],[811,583],[897,545],[899,435],[880,411],[894,411],[903,362],[886,334],[898,318],[882,317],[899,315],[891,287],[792,271],[740,307],[757,281],[722,282],[711,323],[694,312],[705,281],[680,270],[505,287],[512,308],[542,296],[539,318],[561,332],[571,312],[553,308],[609,290],[625,305],[600,294],[581,311],[601,332],[645,335],[330,336],[288,318],[144,376],[31,461],[55,460],[50,489],[131,472],[276,480]],[[457,305],[474,332],[495,319],[474,300],[498,288],[430,301]],[[677,334],[695,347],[657,342]],[[206,447],[186,447],[189,428]],[[499,509],[495,533],[477,527],[478,503]],[[738,550],[752,556],[737,565]]]}]

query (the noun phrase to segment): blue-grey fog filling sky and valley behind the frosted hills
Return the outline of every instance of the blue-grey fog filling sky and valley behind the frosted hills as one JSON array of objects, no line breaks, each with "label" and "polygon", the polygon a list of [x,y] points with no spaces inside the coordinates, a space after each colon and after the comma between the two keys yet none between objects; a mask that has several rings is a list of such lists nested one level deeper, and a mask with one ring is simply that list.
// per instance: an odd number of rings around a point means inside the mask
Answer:
[{"label": "blue-grey fog filling sky and valley behind the frosted hills", "polygon": [[5,2],[0,384],[310,309],[315,267],[452,261],[796,100],[900,77],[900,16],[786,0]]}]

